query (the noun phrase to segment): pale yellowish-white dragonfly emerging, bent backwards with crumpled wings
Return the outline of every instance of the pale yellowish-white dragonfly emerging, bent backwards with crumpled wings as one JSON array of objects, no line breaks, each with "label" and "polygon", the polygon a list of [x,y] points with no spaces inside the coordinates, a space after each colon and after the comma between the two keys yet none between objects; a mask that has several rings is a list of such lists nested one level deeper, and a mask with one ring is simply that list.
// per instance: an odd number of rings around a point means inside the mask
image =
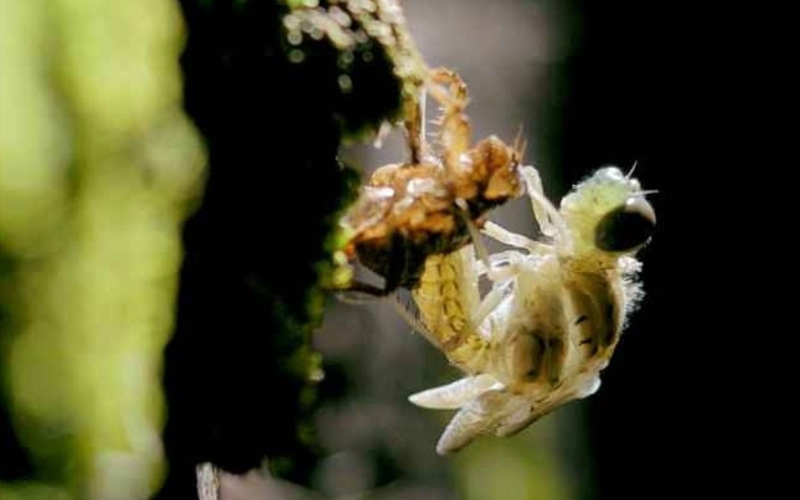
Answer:
[{"label": "pale yellowish-white dragonfly emerging, bent backwards with crumpled wings", "polygon": [[[642,296],[634,254],[650,239],[655,214],[637,179],[602,168],[556,209],[537,172],[524,167],[522,175],[546,241],[487,222],[488,237],[515,249],[479,252],[481,261],[473,246],[430,256],[412,290],[424,335],[467,374],[410,397],[423,407],[458,409],[439,454],[482,434],[510,436],[593,394]],[[492,283],[483,297],[482,275]]]}]

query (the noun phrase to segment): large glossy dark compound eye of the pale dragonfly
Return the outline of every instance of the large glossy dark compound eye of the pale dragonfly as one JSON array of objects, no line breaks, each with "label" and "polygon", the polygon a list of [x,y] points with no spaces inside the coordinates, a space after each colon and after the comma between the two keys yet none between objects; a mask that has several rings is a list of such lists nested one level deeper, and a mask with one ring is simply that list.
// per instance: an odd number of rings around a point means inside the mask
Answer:
[{"label": "large glossy dark compound eye of the pale dragonfly", "polygon": [[655,212],[642,196],[605,214],[595,229],[595,245],[606,252],[626,252],[644,245],[655,229]]}]

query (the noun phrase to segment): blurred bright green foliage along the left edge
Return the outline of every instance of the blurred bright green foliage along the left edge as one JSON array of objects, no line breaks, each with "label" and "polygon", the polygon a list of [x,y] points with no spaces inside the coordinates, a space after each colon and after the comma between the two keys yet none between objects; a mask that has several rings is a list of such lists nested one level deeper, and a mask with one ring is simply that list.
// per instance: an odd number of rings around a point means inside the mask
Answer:
[{"label": "blurred bright green foliage along the left edge", "polygon": [[164,474],[179,229],[204,165],[180,107],[178,5],[0,12],[0,405],[35,481],[0,496],[146,498]]}]

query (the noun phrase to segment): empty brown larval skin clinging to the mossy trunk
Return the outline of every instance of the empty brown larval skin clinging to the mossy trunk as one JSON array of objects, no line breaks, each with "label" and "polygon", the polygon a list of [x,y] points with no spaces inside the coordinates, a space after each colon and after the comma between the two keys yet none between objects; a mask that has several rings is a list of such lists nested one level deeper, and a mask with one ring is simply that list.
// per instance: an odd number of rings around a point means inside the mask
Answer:
[{"label": "empty brown larval skin clinging to the mossy trunk", "polygon": [[488,210],[522,194],[521,141],[508,146],[490,136],[470,148],[467,89],[454,71],[431,70],[427,91],[442,106],[437,154],[426,144],[421,100],[408,121],[411,162],[374,171],[343,218],[348,254],[385,279],[383,288],[353,283],[351,290],[386,296],[414,287],[429,255],[467,245],[468,223],[482,225]]}]

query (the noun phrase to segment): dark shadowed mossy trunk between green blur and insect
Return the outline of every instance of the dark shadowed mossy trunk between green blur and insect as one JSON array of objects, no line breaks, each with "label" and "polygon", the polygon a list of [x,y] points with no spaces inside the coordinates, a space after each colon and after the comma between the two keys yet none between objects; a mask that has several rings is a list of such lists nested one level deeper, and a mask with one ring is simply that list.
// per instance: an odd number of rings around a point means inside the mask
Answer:
[{"label": "dark shadowed mossy trunk between green blur and insect", "polygon": [[303,482],[321,284],[358,176],[342,139],[399,118],[422,74],[396,2],[182,0],[185,103],[208,149],[166,353],[169,477],[270,459]]}]

